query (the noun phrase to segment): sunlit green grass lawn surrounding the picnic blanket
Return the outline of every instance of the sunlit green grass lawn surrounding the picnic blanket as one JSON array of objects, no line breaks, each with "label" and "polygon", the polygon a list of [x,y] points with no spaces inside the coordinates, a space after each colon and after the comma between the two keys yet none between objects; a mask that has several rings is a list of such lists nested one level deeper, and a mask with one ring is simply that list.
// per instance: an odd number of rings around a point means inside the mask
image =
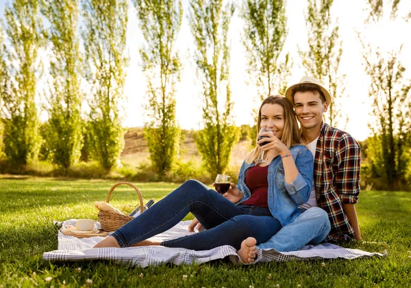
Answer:
[{"label": "sunlit green grass lawn surrounding the picnic blanket", "polygon": [[[93,203],[105,200],[114,183],[0,177],[0,287],[64,287],[64,283],[65,287],[411,287],[411,193],[407,192],[361,192],[356,205],[364,242],[345,246],[387,250],[388,257],[249,266],[221,260],[148,268],[110,261],[43,261],[43,252],[57,249],[53,220],[97,220]],[[135,184],[145,202],[160,200],[177,187]],[[110,202],[137,203],[133,191],[119,187]]]}]

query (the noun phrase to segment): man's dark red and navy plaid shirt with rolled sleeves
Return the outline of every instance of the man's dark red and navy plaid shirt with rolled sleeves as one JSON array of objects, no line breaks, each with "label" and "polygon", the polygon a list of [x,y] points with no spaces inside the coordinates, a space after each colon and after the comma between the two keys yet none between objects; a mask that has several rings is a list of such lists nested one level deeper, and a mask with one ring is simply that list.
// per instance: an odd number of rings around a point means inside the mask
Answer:
[{"label": "man's dark red and navy plaid shirt with rolled sleeves", "polygon": [[324,123],[316,144],[314,183],[317,205],[331,222],[327,240],[354,238],[343,204],[358,202],[359,182],[360,145],[349,133]]}]

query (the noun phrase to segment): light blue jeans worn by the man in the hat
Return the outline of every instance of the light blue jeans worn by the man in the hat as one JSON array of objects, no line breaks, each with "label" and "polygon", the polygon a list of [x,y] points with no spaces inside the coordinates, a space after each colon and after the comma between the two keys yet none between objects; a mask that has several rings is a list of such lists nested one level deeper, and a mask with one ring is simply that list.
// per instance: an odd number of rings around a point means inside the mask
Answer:
[{"label": "light blue jeans worn by the man in the hat", "polygon": [[294,222],[281,228],[271,239],[258,244],[257,248],[274,248],[279,252],[295,251],[306,244],[320,244],[330,230],[327,212],[319,207],[312,207]]}]

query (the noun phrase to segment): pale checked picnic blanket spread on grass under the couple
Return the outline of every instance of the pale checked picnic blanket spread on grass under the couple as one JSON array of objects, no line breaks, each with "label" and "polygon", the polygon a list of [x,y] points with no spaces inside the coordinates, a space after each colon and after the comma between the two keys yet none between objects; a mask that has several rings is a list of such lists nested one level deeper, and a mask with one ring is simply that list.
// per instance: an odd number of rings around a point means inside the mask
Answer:
[{"label": "pale checked picnic blanket spread on grass under the couple", "polygon": [[[64,222],[55,222],[65,228],[67,224],[75,225],[76,220],[67,220]],[[191,221],[179,222],[169,231],[161,233],[151,239],[168,240],[190,235],[188,225]],[[99,228],[99,223],[96,223]],[[193,232],[196,233],[196,232]],[[147,267],[149,265],[161,265],[164,263],[173,263],[175,265],[206,263],[208,261],[223,259],[228,257],[232,263],[242,264],[236,249],[232,246],[220,246],[211,250],[195,251],[185,248],[167,248],[163,246],[145,246],[130,248],[92,248],[99,243],[103,237],[76,238],[64,235],[58,231],[58,250],[45,252],[43,259],[47,261],[84,261],[84,260],[114,260],[119,263],[128,263],[129,265],[138,265]],[[259,250],[255,263],[270,261],[290,261],[309,260],[309,259],[355,259],[358,257],[386,256],[376,252],[366,252],[358,249],[348,249],[334,244],[320,244],[316,246],[304,246],[301,250],[292,252],[278,252],[274,249]]]}]

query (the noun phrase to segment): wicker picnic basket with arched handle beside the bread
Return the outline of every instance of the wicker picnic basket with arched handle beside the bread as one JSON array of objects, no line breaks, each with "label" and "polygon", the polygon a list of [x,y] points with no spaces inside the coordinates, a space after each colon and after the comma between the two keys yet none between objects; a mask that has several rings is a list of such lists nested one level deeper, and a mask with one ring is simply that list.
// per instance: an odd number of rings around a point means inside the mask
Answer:
[{"label": "wicker picnic basket with arched handle beside the bread", "polygon": [[[116,183],[112,187],[112,189],[110,189],[110,192],[108,192],[107,200],[105,200],[105,202],[110,202],[110,197],[112,196],[114,189],[116,189],[116,187],[119,185],[129,185],[130,187],[133,187],[134,190],[136,190],[138,199],[140,199],[140,213],[142,213],[142,211],[144,211],[144,203],[142,202],[141,192],[136,186],[129,182]],[[133,219],[134,218],[131,216],[121,215],[115,212],[99,211],[99,222],[101,224],[101,228],[103,229],[103,231],[107,232],[116,231],[118,228]]]}]

